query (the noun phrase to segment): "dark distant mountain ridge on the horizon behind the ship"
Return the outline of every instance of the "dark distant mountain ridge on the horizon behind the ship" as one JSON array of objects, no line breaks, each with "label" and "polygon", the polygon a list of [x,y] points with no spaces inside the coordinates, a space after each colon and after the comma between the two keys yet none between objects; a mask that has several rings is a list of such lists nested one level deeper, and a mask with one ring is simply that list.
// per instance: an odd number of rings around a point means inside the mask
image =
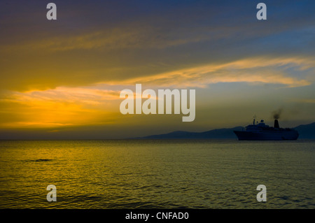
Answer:
[{"label": "dark distant mountain ridge on the horizon behind the ship", "polygon": [[[156,138],[156,139],[178,139],[178,138],[210,138],[210,139],[236,139],[237,136],[233,131],[241,131],[244,127],[234,127],[230,129],[214,129],[203,132],[191,131],[173,131],[168,134],[160,134],[153,136],[144,136],[139,138]],[[301,139],[315,139],[315,122],[311,124],[302,124],[293,128],[300,134]]]}]

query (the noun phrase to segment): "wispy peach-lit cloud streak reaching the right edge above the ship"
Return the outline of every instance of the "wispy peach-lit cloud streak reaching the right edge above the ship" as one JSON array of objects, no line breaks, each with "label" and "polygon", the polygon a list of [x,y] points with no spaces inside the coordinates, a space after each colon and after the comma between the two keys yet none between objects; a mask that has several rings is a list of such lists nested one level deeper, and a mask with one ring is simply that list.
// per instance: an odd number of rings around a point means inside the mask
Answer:
[{"label": "wispy peach-lit cloud streak reaching the right edge above the ship", "polygon": [[[299,71],[299,74],[292,76],[286,72],[288,69],[295,69]],[[207,87],[209,84],[218,82],[260,82],[280,84],[286,87],[301,87],[311,84],[309,80],[299,76],[301,71],[307,69],[315,69],[314,58],[256,57],[130,78],[123,80],[120,84],[144,83],[164,87]]]}]

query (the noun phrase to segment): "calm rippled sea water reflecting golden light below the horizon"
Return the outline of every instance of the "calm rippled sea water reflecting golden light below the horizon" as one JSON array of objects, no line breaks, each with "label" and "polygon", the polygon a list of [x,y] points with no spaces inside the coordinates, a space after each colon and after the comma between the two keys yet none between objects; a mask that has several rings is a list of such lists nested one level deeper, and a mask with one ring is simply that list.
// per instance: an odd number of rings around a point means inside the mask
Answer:
[{"label": "calm rippled sea water reflecting golden light below the horizon", "polygon": [[315,141],[0,141],[0,208],[315,208],[314,185]]}]

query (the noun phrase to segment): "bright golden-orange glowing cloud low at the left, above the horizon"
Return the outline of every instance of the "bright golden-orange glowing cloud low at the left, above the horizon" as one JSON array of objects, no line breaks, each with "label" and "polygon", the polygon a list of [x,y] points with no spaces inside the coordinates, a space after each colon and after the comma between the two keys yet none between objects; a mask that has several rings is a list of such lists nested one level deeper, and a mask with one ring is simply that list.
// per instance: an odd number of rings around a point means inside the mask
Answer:
[{"label": "bright golden-orange glowing cloud low at the left, above the horizon", "polygon": [[[117,116],[110,101],[119,99],[112,90],[57,87],[45,91],[10,92],[0,100],[3,128],[47,128],[99,125]],[[6,120],[8,115],[14,119]]]}]

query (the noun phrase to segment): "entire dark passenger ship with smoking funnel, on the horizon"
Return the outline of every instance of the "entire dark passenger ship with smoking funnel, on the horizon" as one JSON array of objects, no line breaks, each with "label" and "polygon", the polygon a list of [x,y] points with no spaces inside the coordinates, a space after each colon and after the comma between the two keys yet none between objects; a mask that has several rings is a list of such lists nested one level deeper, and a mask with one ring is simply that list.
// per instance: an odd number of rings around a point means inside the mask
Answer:
[{"label": "entire dark passenger ship with smoking funnel, on the horizon", "polygon": [[297,140],[299,133],[295,129],[283,129],[279,127],[278,120],[274,120],[274,127],[269,127],[264,120],[260,123],[249,124],[243,131],[234,131],[239,141],[282,141]]}]

